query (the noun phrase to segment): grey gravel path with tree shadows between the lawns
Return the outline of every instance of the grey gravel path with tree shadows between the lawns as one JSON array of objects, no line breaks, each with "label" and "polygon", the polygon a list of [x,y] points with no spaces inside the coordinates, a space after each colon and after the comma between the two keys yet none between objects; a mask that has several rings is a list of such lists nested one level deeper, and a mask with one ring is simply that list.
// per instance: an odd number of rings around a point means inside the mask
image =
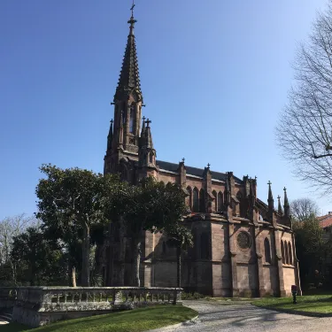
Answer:
[{"label": "grey gravel path with tree shadows between the lawns", "polygon": [[183,301],[197,310],[199,320],[179,328],[160,329],[167,332],[325,332],[332,331],[332,318],[305,317],[276,313],[250,303]]}]

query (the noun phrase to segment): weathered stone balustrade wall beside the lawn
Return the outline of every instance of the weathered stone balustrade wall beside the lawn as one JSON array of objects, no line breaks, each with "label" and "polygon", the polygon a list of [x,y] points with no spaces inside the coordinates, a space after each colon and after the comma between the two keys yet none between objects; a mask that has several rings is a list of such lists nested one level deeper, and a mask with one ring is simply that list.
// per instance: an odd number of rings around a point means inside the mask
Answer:
[{"label": "weathered stone balustrade wall beside the lawn", "polygon": [[[181,305],[181,289],[138,287],[0,288],[0,305],[13,306],[12,321],[38,327],[56,320],[79,318],[146,305]],[[1,307],[1,306],[0,306]]]}]

